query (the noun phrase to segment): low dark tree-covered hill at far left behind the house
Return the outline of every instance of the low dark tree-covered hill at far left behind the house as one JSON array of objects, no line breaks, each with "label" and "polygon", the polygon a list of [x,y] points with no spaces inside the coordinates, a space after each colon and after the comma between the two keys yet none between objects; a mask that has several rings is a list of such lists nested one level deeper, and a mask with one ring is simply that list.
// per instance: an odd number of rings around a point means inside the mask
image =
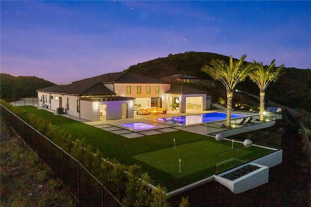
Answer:
[{"label": "low dark tree-covered hill at far left behind the house", "polygon": [[35,76],[16,77],[6,73],[0,73],[0,80],[0,98],[7,102],[37,97],[36,89],[55,85]]}]

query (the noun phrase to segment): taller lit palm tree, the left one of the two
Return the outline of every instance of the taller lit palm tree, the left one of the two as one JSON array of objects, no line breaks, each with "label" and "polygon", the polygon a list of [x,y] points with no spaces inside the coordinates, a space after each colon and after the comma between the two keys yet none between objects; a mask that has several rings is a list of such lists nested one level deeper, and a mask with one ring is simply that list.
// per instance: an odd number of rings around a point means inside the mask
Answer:
[{"label": "taller lit palm tree, the left one of the two", "polygon": [[233,61],[230,55],[229,65],[224,60],[212,59],[210,66],[203,66],[202,68],[202,71],[214,80],[219,80],[225,85],[227,92],[226,127],[231,126],[233,89],[253,69],[251,64],[243,65],[245,58],[246,55],[244,54],[239,61]]}]

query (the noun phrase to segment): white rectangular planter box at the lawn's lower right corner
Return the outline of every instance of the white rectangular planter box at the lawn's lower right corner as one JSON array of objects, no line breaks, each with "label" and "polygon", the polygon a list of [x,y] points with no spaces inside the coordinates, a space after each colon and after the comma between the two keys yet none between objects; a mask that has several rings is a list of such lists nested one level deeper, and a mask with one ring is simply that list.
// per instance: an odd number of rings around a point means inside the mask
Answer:
[{"label": "white rectangular planter box at the lawn's lower right corner", "polygon": [[[246,165],[256,165],[259,167],[259,169],[245,174],[235,180],[228,180],[222,177],[223,175],[234,172]],[[262,166],[255,163],[247,163],[237,168],[231,169],[230,171],[226,171],[225,173],[214,175],[214,180],[227,187],[233,193],[237,194],[268,183],[269,168],[267,166]]]}]

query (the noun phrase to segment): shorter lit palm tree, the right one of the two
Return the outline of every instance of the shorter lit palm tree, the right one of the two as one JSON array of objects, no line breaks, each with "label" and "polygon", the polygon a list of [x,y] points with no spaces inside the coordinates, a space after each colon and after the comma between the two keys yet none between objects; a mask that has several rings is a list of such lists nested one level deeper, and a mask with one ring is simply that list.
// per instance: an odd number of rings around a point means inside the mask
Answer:
[{"label": "shorter lit palm tree, the right one of the two", "polygon": [[257,63],[254,61],[254,70],[249,74],[251,80],[257,84],[260,90],[260,106],[259,106],[259,120],[264,120],[264,95],[266,87],[271,83],[275,82],[277,77],[282,73],[284,64],[277,67],[275,65],[276,60],[272,60],[269,66],[263,66],[262,62]]}]

